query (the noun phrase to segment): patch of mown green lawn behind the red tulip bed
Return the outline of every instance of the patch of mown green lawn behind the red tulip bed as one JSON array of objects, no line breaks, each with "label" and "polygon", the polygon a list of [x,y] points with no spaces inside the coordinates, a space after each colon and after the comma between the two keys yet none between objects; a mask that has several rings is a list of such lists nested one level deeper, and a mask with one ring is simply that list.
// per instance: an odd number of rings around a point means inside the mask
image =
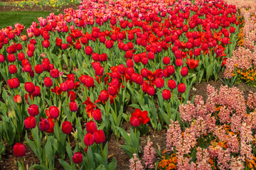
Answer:
[{"label": "patch of mown green lawn behind the red tulip bed", "polygon": [[[15,23],[20,23],[25,26],[23,34],[26,34],[26,28],[30,28],[32,22],[39,23],[38,17],[46,18],[49,16],[49,13],[46,11],[0,11],[0,29],[6,28],[7,26],[12,26],[14,28]],[[55,13],[57,15],[58,13]]]}]

